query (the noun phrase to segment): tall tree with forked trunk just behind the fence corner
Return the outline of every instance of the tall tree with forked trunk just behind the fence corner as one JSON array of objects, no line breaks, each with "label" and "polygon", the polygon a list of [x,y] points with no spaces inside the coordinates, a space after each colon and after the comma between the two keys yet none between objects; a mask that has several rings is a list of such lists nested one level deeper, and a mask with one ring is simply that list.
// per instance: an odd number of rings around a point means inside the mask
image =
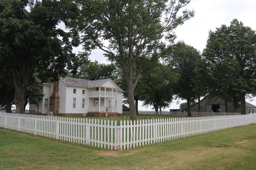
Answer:
[{"label": "tall tree with forked trunk just behind the fence corner", "polygon": [[69,27],[83,34],[85,54],[100,48],[109,61],[120,64],[127,84],[131,120],[137,120],[134,89],[139,81],[140,65],[147,56],[147,46],[157,44],[163,33],[166,38],[173,38],[171,31],[194,16],[194,11],[188,10],[178,15],[190,0],[74,2],[80,13],[77,22],[73,21]]}]

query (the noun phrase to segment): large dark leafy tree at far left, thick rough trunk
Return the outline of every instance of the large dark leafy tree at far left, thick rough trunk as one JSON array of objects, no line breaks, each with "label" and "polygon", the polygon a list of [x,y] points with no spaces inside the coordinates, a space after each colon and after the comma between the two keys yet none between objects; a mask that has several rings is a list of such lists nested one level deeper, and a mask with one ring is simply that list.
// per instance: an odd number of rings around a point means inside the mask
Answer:
[{"label": "large dark leafy tree at far left, thick rough trunk", "polygon": [[[11,69],[17,113],[24,113],[25,91],[35,69],[52,80],[64,76],[64,68],[71,67],[67,63],[74,57],[72,45],[77,45],[76,34],[69,41],[71,34],[56,28],[60,21],[72,19],[71,12],[57,0],[33,2],[0,3],[0,57]],[[69,9],[73,10],[72,6]]]}]

